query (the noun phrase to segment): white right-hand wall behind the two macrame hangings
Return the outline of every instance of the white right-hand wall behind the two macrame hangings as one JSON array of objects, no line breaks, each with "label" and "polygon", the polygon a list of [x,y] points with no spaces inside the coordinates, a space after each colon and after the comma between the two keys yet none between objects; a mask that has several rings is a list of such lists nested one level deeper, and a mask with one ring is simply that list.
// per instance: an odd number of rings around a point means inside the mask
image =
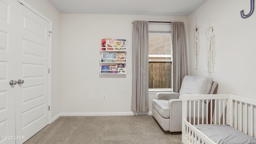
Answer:
[{"label": "white right-hand wall behind the two macrame hangings", "polygon": [[[255,98],[256,14],[243,19],[240,11],[250,11],[250,0],[208,0],[188,16],[189,66],[191,75],[206,73],[206,30],[214,26],[216,62],[214,80],[219,94],[236,94]],[[198,70],[195,70],[194,32],[196,18],[200,28]]]}]

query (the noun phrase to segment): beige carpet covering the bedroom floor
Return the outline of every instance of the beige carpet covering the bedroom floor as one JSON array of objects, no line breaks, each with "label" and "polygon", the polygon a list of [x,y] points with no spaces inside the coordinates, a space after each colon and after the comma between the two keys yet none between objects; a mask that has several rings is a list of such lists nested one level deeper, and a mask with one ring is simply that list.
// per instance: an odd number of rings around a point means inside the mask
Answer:
[{"label": "beige carpet covering the bedroom floor", "polygon": [[24,144],[182,144],[152,116],[61,116]]}]

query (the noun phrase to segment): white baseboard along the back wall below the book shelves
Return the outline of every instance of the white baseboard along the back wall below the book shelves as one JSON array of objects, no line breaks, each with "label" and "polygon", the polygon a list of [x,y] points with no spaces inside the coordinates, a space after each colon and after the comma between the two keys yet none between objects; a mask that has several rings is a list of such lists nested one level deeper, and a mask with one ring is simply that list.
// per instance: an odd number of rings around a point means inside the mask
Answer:
[{"label": "white baseboard along the back wall below the book shelves", "polygon": [[[60,116],[133,116],[133,112],[61,112],[52,118],[52,122]],[[137,115],[152,115],[152,112],[137,113]]]}]

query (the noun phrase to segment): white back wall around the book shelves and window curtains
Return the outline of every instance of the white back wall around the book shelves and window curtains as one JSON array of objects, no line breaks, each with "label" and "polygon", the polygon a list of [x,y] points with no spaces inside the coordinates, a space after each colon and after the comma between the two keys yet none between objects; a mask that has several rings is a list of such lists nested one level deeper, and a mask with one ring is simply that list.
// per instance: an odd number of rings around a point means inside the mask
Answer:
[{"label": "white back wall around the book shelves and window curtains", "polygon": [[[132,114],[134,20],[182,21],[188,26],[184,16],[61,14],[61,112],[66,115]],[[100,75],[102,38],[126,39],[126,76]],[[93,100],[89,100],[89,94],[93,94]],[[102,99],[103,94],[106,100]],[[152,111],[154,96],[150,95],[149,111]]]}]

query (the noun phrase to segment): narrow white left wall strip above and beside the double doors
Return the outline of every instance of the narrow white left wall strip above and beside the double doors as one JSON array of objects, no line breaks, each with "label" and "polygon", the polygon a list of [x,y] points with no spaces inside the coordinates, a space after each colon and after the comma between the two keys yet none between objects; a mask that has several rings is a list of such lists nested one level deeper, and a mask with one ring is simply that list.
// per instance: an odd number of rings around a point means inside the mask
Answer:
[{"label": "narrow white left wall strip above and beside the double doors", "polygon": [[60,12],[47,0],[24,0],[52,20],[52,118],[60,111]]}]

